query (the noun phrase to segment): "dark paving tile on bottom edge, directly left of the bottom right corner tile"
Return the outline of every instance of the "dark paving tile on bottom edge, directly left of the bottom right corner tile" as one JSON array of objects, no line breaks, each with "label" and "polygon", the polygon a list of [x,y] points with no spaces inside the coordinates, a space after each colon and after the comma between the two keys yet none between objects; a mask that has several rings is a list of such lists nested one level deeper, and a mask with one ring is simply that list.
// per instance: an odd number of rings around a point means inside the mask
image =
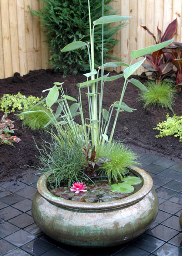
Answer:
[{"label": "dark paving tile on bottom edge, directly left of the bottom right corner tile", "polygon": [[135,246],[127,246],[125,247],[123,250],[119,251],[118,253],[114,254],[114,256],[136,256],[136,255],[140,255],[140,256],[148,256],[150,255],[150,253],[148,253],[147,251],[143,251],[140,248],[137,248]]}]

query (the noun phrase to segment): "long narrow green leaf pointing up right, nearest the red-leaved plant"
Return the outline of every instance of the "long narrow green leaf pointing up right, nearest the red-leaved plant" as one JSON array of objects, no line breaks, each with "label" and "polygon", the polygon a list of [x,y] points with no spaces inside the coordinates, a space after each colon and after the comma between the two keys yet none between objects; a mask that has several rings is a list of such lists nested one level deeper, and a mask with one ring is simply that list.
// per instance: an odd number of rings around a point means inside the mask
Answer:
[{"label": "long narrow green leaf pointing up right, nearest the red-leaved plant", "polygon": [[143,49],[133,51],[133,52],[131,52],[131,59],[136,59],[141,56],[147,55],[151,52],[156,52],[156,51],[166,47],[167,45],[171,44],[173,42],[173,40],[174,40],[174,38],[167,40],[165,42],[159,43],[159,44],[154,44],[154,45],[145,47]]}]

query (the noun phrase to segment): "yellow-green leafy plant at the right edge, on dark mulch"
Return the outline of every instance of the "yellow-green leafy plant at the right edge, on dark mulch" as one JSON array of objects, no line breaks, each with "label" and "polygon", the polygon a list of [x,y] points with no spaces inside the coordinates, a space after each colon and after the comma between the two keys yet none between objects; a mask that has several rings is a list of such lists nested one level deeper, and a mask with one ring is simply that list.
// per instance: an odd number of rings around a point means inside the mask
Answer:
[{"label": "yellow-green leafy plant at the right edge, on dark mulch", "polygon": [[156,138],[174,135],[174,137],[179,137],[180,142],[182,142],[182,116],[174,114],[174,116],[170,117],[167,113],[166,121],[158,123],[157,127],[153,129],[160,131]]}]

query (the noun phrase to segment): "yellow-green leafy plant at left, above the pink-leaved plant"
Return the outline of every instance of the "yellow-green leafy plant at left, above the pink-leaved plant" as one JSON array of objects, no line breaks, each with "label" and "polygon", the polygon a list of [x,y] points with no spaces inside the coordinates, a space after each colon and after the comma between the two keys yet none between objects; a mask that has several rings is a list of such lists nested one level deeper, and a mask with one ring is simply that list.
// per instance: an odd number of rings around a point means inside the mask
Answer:
[{"label": "yellow-green leafy plant at left, above the pink-leaved plant", "polygon": [[[4,94],[0,99],[0,110],[4,113],[14,113],[16,110],[22,110],[24,112],[39,101],[39,97],[30,95],[26,98],[20,92],[18,94]],[[23,116],[20,116],[20,119],[23,119]]]}]

